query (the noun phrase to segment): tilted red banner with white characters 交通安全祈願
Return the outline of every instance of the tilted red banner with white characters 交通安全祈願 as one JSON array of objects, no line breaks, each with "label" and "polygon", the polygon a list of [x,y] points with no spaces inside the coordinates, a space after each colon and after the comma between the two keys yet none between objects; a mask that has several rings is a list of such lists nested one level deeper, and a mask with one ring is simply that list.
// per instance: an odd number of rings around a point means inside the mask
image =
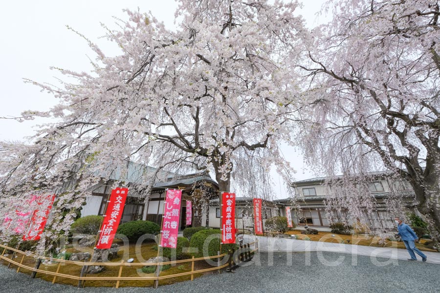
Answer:
[{"label": "tilted red banner with white characters \u4ea4\u901a\u5b89\u5168\u7948\u9858", "polygon": [[114,235],[121,222],[124,205],[127,199],[128,188],[117,187],[111,190],[110,202],[107,206],[106,215],[101,226],[97,249],[109,249],[113,243]]}]

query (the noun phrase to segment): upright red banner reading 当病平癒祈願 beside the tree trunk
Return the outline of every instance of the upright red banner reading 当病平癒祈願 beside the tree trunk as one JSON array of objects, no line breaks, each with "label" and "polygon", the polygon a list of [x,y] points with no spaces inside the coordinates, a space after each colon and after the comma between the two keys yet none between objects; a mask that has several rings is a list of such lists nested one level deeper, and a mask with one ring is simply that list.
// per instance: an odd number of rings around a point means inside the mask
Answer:
[{"label": "upright red banner reading \u5f53\u75c5\u5e73\u7652\u7948\u9858 beside the tree trunk", "polygon": [[235,193],[221,195],[221,244],[235,243]]}]

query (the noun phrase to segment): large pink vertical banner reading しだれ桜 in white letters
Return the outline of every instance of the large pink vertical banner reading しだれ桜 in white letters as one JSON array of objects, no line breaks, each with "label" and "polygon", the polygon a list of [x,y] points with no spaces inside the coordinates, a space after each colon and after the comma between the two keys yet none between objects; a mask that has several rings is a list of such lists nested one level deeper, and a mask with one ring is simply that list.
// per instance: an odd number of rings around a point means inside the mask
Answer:
[{"label": "large pink vertical banner reading \u3057\u3060\u308c\u685c in white letters", "polygon": [[162,230],[160,231],[160,246],[176,248],[179,230],[180,201],[182,190],[168,189],[163,208]]}]

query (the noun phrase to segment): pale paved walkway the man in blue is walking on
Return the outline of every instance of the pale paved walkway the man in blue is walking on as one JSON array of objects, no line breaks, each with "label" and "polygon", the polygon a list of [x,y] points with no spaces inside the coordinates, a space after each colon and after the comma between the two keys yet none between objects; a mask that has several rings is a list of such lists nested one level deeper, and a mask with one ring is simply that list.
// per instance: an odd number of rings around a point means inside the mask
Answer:
[{"label": "pale paved walkway the man in blue is walking on", "polygon": [[[254,237],[254,236],[249,236]],[[319,241],[296,240],[289,238],[257,236],[261,252],[300,252],[300,251],[329,251],[339,253],[350,253],[355,255],[367,255],[370,257],[386,257],[391,259],[407,260],[410,256],[405,249],[392,247],[373,247],[364,245],[351,245],[340,243],[329,243]],[[428,257],[427,262],[440,264],[440,253],[422,251]],[[420,260],[421,257],[418,256]]]}]

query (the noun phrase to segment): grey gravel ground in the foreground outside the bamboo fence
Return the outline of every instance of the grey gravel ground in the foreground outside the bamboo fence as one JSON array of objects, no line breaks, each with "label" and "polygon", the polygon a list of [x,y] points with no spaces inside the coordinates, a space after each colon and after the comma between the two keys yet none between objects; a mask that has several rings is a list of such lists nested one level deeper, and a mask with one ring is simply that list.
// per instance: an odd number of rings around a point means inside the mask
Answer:
[{"label": "grey gravel ground in the foreground outside the bamboo fence", "polygon": [[[352,259],[352,257],[354,257]],[[337,261],[341,259],[341,261]],[[356,265],[353,265],[353,262]],[[377,266],[377,262],[381,266]],[[145,292],[440,292],[440,265],[372,259],[333,252],[260,253],[235,273],[222,272],[153,288],[85,288],[52,285],[0,265],[1,293]],[[326,265],[327,264],[327,265]],[[329,266],[330,264],[330,266]],[[384,265],[385,264],[385,265]],[[332,266],[331,266],[332,265]]]}]

